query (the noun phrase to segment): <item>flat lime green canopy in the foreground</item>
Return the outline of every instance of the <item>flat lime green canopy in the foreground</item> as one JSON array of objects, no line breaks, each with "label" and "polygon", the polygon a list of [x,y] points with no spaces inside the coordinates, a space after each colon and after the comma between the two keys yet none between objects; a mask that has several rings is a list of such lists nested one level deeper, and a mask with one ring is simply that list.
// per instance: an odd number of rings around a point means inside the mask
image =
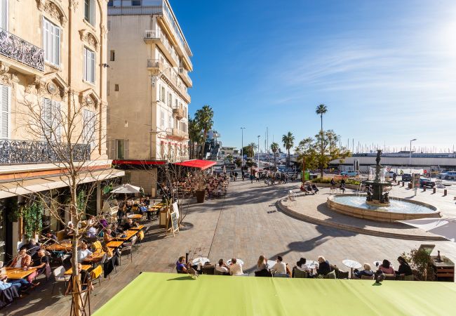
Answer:
[{"label": "flat lime green canopy in the foreground", "polygon": [[144,272],[95,315],[454,315],[447,282]]}]

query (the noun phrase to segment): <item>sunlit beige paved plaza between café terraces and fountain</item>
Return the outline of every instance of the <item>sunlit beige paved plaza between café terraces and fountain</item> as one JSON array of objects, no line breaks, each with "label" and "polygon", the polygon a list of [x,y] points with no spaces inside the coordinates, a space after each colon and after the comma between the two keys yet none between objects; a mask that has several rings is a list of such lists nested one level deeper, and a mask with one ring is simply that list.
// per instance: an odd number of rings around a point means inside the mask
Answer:
[{"label": "sunlit beige paved plaza between caf\u00e9 terraces and fountain", "polygon": [[[253,272],[260,254],[272,259],[281,255],[292,266],[300,257],[316,260],[317,256],[323,255],[330,263],[343,267],[342,260],[346,258],[361,263],[387,258],[396,263],[397,256],[403,251],[422,244],[419,240],[376,237],[315,225],[282,213],[276,202],[288,195],[288,190],[299,190],[299,185],[295,181],[267,187],[264,183],[237,180],[229,184],[224,199],[192,204],[188,212],[185,206],[182,213],[187,213],[184,219],[186,229],[175,237],[165,235],[163,229],[153,225],[139,250],[133,254],[133,261],[123,256],[117,273],[110,279],[102,279],[101,285],[95,285],[90,296],[92,311],[100,308],[141,271],[175,272],[175,261],[186,252],[190,253],[190,258],[206,256],[213,263],[220,258],[241,258],[245,263],[244,270]],[[394,190],[403,197],[410,197],[412,193],[401,187]],[[321,193],[324,195],[324,190]],[[324,203],[321,196],[305,198]],[[431,204],[431,200],[435,201],[443,213],[452,214],[455,208],[452,197],[431,195],[431,192],[419,192],[417,199]],[[442,255],[456,259],[454,243],[431,243],[436,244],[435,251],[440,250]],[[60,295],[62,284],[58,284],[53,295],[52,288],[51,280],[40,284],[29,296],[1,310],[1,315],[67,315],[70,299]],[[151,289],[151,295],[156,290]]]}]

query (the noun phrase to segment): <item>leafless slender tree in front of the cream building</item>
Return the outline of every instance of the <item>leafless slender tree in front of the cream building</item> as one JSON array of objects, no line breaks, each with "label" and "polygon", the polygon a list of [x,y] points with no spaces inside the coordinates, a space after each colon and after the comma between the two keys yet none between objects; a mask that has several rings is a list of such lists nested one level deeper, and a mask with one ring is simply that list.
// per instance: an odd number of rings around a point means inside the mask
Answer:
[{"label": "leafless slender tree in front of the cream building", "polygon": [[[29,151],[22,154],[34,154],[36,161],[53,164],[59,170],[58,177],[65,183],[66,190],[35,192],[27,189],[25,177],[15,180],[17,187],[22,189],[16,189],[15,192],[24,197],[28,204],[40,203],[43,210],[48,211],[62,225],[67,225],[65,213],[73,223],[72,312],[74,315],[85,314],[81,310],[81,284],[76,254],[81,237],[86,235],[101,216],[98,214],[94,223],[82,223],[88,217],[90,197],[97,189],[98,182],[111,178],[111,173],[114,172],[114,169],[110,169],[100,173],[100,167],[107,166],[104,152],[106,109],[96,98],[81,98],[81,93],[76,96],[76,91],[69,91],[67,98],[50,98],[36,89],[34,93],[26,93],[24,100],[20,108],[15,110],[15,115],[17,121],[23,122],[22,126],[18,126],[18,133],[26,140],[23,143],[31,145]],[[10,145],[12,149],[17,144],[11,142]]]}]

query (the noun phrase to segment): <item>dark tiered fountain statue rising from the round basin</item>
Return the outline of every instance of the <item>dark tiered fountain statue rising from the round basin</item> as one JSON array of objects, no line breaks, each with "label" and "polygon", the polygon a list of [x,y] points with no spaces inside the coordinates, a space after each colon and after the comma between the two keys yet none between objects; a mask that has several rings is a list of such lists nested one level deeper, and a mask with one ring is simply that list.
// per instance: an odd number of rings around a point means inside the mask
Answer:
[{"label": "dark tiered fountain statue rising from the round basin", "polygon": [[389,181],[385,181],[382,174],[384,174],[384,167],[380,164],[382,159],[382,150],[377,150],[377,158],[375,162],[375,176],[373,180],[363,181],[363,184],[366,186],[366,192],[368,196],[366,197],[366,203],[371,205],[379,206],[388,206],[389,205],[389,193],[384,192],[385,187],[391,187]]}]

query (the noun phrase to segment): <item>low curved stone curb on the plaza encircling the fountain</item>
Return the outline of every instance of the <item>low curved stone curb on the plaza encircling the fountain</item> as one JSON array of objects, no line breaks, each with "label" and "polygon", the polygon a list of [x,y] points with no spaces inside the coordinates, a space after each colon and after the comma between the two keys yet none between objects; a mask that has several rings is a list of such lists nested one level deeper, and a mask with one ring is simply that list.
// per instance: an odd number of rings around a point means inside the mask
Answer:
[{"label": "low curved stone curb on the plaza encircling the fountain", "polygon": [[303,213],[298,213],[296,211],[293,211],[290,209],[288,206],[285,206],[282,204],[282,199],[288,198],[288,196],[283,197],[279,199],[277,202],[277,206],[279,209],[283,212],[286,213],[288,216],[296,218],[298,220],[302,220],[307,223],[312,223],[312,224],[317,224],[317,225],[323,225],[323,226],[328,226],[331,228],[340,228],[342,230],[348,230],[350,232],[358,232],[363,235],[371,235],[371,236],[377,236],[377,237],[387,237],[387,238],[396,238],[396,239],[408,239],[408,240],[427,240],[427,241],[447,241],[447,239],[441,237],[441,236],[423,236],[423,235],[405,235],[405,234],[398,234],[396,232],[382,232],[380,230],[366,230],[362,228],[355,228],[350,225],[345,225],[345,224],[338,224],[338,223],[332,223],[328,222],[326,220],[320,220],[318,218],[314,218],[311,216],[304,215]]}]

